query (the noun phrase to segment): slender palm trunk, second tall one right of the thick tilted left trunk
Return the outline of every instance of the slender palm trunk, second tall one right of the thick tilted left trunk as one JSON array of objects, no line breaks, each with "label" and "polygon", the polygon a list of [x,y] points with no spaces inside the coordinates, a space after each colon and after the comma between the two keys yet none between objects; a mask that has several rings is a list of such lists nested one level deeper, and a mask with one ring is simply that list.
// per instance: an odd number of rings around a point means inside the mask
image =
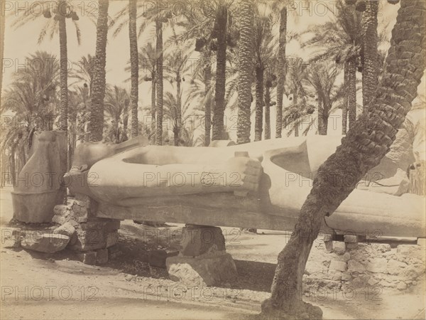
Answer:
[{"label": "slender palm trunk, second tall one right of the thick tilted left trunk", "polygon": [[156,51],[157,51],[157,135],[155,143],[163,144],[163,23],[155,21]]}]

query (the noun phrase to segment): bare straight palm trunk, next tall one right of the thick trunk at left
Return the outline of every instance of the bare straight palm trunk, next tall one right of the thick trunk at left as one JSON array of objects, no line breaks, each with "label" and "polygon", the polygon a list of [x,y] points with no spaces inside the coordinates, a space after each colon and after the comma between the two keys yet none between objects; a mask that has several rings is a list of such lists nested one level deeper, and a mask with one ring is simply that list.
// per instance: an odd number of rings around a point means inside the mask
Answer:
[{"label": "bare straight palm trunk, next tall one right of the thick trunk at left", "polygon": [[139,134],[138,124],[138,92],[139,92],[139,62],[138,36],[136,33],[136,1],[129,0],[129,41],[130,41],[130,110],[131,110],[131,137]]}]

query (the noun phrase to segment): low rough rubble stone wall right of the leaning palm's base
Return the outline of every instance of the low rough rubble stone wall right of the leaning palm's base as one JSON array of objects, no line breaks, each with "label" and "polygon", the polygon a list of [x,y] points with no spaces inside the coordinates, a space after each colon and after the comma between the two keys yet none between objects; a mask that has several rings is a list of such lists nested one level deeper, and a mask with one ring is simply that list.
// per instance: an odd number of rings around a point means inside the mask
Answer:
[{"label": "low rough rubble stone wall right of the leaning palm's base", "polygon": [[[327,237],[327,236],[326,236]],[[304,275],[304,291],[394,289],[403,291],[425,281],[425,247],[385,243],[315,242]]]}]

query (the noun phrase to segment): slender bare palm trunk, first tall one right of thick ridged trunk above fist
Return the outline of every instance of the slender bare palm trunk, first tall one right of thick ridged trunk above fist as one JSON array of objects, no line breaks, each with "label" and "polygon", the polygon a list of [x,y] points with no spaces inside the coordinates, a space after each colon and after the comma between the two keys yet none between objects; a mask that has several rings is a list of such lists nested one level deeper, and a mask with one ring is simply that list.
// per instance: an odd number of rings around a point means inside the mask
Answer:
[{"label": "slender bare palm trunk, first tall one right of thick ridged trunk above fist", "polygon": [[285,83],[285,46],[287,44],[287,7],[280,11],[280,40],[278,47],[278,82],[277,82],[277,119],[275,138],[281,137],[283,130],[283,95]]}]

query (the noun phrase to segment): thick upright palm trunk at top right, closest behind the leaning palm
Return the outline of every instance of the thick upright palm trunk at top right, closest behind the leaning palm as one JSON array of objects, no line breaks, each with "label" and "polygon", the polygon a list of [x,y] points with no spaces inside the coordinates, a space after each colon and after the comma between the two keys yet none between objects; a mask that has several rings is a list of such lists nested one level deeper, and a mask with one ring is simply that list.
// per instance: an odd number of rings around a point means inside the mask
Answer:
[{"label": "thick upright palm trunk at top right, closest behind the leaning palm", "polygon": [[378,82],[378,35],[377,14],[378,1],[368,0],[363,14],[364,26],[364,65],[362,69],[362,100],[363,110],[373,100]]}]

